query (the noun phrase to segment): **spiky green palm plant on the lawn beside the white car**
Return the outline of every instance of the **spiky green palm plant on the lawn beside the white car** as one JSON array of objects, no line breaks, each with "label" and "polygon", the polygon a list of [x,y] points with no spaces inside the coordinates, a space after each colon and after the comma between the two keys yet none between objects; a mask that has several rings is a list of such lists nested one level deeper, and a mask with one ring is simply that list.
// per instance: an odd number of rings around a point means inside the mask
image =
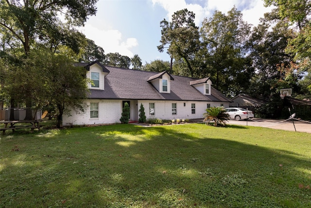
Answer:
[{"label": "spiky green palm plant on the lawn beside the white car", "polygon": [[206,113],[203,113],[204,122],[208,124],[210,121],[214,121],[214,126],[217,124],[222,124],[225,126],[225,122],[229,120],[230,116],[226,113],[223,106],[210,107],[206,109]]}]

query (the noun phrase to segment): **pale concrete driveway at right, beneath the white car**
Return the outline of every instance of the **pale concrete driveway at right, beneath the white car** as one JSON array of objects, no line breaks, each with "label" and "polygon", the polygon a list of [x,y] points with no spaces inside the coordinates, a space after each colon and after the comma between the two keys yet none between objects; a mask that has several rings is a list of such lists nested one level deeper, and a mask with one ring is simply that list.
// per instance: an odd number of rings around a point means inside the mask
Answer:
[{"label": "pale concrete driveway at right, beneath the white car", "polygon": [[[273,120],[273,119],[259,119],[254,118],[253,120],[229,120],[227,124],[232,125],[242,125],[242,126],[258,126],[258,127],[266,127],[271,129],[279,129],[279,130],[286,130],[286,131],[296,131],[297,132],[307,132],[311,133],[311,122],[303,122],[303,121],[283,121],[283,120]],[[295,128],[294,128],[295,127]]]}]

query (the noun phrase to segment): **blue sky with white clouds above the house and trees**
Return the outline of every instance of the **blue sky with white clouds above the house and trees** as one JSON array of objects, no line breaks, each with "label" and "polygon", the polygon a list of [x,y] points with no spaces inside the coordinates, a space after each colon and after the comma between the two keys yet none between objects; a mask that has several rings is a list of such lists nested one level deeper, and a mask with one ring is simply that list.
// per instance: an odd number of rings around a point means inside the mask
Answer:
[{"label": "blue sky with white clouds above the house and trees", "polygon": [[96,16],[90,16],[80,31],[104,49],[132,58],[138,55],[142,64],[161,59],[170,61],[164,51],[158,52],[163,19],[171,21],[178,10],[187,8],[195,14],[196,26],[218,10],[227,14],[236,7],[243,19],[254,26],[270,12],[263,0],[98,0]]}]

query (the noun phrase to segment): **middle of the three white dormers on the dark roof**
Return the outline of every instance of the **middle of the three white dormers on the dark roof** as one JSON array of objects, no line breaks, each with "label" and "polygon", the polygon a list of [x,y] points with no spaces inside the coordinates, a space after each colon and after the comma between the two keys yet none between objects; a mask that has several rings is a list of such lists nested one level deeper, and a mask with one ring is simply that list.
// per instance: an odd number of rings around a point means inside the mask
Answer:
[{"label": "middle of the three white dormers on the dark roof", "polygon": [[150,76],[147,81],[160,93],[171,93],[172,80],[174,80],[174,78],[167,71],[164,71],[155,76]]}]

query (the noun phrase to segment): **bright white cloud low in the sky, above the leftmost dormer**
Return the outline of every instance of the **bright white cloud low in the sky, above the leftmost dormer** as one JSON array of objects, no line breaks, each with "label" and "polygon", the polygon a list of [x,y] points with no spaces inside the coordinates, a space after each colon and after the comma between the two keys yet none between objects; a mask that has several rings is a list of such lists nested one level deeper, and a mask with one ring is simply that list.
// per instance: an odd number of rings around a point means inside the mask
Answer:
[{"label": "bright white cloud low in the sky, above the leftmost dormer", "polygon": [[96,45],[101,46],[105,54],[118,52],[122,56],[133,57],[131,48],[138,46],[136,38],[122,39],[122,34],[119,30],[104,30],[86,24],[85,27],[80,28],[86,38],[94,40]]}]

